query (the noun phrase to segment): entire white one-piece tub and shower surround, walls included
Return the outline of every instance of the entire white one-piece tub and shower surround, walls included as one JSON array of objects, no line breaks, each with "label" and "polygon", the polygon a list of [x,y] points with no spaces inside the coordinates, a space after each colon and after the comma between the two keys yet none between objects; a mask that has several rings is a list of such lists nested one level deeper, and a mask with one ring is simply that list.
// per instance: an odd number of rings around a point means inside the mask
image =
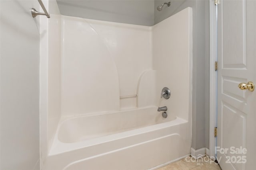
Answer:
[{"label": "entire white one-piece tub and shower surround, walls included", "polygon": [[45,98],[60,105],[41,121],[42,169],[156,169],[189,155],[192,8],[152,27],[51,16]]}]

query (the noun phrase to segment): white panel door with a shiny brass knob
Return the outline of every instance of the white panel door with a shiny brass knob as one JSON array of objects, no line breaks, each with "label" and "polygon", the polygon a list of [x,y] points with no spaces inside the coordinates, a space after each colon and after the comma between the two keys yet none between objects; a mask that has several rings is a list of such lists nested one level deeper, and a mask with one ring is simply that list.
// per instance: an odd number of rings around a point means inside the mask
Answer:
[{"label": "white panel door with a shiny brass knob", "polygon": [[[254,170],[256,163],[256,1],[222,0],[218,4],[218,136],[222,170]],[[234,153],[234,149],[244,152]],[[247,149],[247,152],[246,150]],[[239,150],[237,150],[239,151]]]}]

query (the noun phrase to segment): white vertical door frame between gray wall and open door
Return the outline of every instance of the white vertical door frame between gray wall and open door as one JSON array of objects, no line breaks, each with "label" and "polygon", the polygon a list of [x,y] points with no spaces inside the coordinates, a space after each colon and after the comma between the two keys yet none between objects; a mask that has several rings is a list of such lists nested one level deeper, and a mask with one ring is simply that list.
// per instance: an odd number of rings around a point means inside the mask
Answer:
[{"label": "white vertical door frame between gray wall and open door", "polygon": [[214,128],[217,127],[217,73],[215,62],[217,56],[217,6],[215,0],[210,1],[210,119],[209,119],[209,156],[215,157],[216,137],[214,137]]}]

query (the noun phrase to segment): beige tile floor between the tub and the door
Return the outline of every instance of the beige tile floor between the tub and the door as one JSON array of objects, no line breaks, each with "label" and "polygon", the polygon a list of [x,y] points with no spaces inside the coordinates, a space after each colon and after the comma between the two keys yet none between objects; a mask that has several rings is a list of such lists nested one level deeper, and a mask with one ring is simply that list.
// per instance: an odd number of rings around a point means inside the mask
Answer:
[{"label": "beige tile floor between the tub and the door", "polygon": [[221,170],[221,168],[213,160],[210,160],[208,156],[198,158],[198,160],[188,156],[187,158],[168,164],[158,170]]}]

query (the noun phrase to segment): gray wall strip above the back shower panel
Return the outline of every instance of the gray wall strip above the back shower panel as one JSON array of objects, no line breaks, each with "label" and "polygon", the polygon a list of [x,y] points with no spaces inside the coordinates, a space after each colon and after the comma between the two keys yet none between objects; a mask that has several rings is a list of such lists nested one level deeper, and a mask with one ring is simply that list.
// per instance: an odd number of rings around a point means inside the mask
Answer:
[{"label": "gray wall strip above the back shower panel", "polygon": [[102,21],[154,25],[154,0],[57,0],[60,14]]}]

